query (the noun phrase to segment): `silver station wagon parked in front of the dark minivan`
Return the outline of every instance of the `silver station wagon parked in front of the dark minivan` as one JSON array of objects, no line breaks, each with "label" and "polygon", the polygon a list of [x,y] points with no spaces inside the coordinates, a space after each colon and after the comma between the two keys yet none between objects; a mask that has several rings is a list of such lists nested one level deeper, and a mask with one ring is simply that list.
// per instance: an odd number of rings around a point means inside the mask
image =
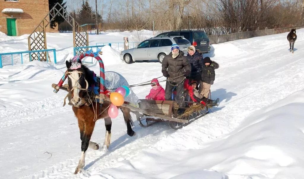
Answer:
[{"label": "silver station wagon parked in front of the dark minivan", "polygon": [[183,36],[162,36],[152,37],[144,40],[135,48],[123,50],[120,53],[120,59],[127,64],[148,60],[158,60],[161,63],[164,57],[171,52],[171,45],[174,43],[178,44],[179,49],[187,55],[187,48],[191,45],[187,39]]}]

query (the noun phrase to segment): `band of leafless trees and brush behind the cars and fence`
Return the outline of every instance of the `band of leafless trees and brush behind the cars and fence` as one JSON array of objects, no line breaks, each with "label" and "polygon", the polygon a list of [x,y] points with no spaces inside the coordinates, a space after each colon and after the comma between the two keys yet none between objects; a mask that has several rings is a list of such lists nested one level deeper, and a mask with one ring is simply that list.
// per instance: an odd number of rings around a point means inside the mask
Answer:
[{"label": "band of leafless trees and brush behind the cars and fence", "polygon": [[[81,0],[75,1],[71,9],[77,10]],[[200,29],[210,35],[304,24],[304,0],[100,0],[100,5],[107,17],[104,30],[152,30],[154,22],[160,32]]]}]

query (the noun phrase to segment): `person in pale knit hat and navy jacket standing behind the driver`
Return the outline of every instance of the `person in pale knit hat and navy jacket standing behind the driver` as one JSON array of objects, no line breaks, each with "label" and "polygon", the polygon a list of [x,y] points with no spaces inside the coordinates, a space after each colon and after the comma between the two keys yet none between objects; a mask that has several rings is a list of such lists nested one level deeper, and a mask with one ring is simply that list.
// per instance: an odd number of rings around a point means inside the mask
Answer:
[{"label": "person in pale knit hat and navy jacket standing behind the driver", "polygon": [[193,45],[188,47],[187,58],[191,65],[189,81],[196,81],[199,86],[201,79],[201,69],[204,67],[203,56],[195,50]]}]

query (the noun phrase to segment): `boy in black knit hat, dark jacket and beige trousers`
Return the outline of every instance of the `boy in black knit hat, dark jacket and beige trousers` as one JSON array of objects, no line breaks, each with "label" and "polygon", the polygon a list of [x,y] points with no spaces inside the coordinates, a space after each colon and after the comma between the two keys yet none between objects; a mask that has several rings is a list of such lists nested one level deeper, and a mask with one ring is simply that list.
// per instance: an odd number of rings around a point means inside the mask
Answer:
[{"label": "boy in black knit hat, dark jacket and beige trousers", "polygon": [[217,64],[215,61],[211,61],[209,57],[205,57],[203,63],[205,65],[202,68],[202,72],[201,72],[199,93],[202,96],[208,98],[211,84],[213,84],[213,81],[215,80],[214,70],[219,68],[219,64]]}]

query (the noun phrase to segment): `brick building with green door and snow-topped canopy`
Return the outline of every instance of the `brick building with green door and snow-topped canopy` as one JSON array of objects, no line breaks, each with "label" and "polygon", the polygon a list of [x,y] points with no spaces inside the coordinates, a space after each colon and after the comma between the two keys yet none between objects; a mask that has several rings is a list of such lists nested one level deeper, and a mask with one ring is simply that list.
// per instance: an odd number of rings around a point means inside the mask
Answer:
[{"label": "brick building with green door and snow-topped canopy", "polygon": [[9,36],[30,34],[48,12],[48,0],[0,0],[0,31]]}]

